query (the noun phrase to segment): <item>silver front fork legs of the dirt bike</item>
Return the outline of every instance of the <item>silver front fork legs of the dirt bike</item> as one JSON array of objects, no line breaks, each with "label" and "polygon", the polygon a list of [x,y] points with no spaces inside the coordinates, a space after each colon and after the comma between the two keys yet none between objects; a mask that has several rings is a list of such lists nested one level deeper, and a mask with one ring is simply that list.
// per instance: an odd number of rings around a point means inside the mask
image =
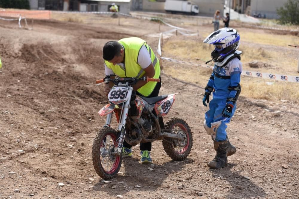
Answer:
[{"label": "silver front fork legs of the dirt bike", "polygon": [[[128,112],[129,112],[129,109],[130,109],[130,102],[131,102],[131,96],[132,96],[132,92],[133,92],[133,88],[129,86],[129,91],[127,93],[127,96],[128,96],[128,100],[124,103],[124,105],[122,106],[122,111],[120,113],[120,120],[119,120],[119,123],[118,123],[118,133],[120,133],[120,136],[118,138],[118,145],[114,147],[114,151],[111,152],[112,155],[114,156],[120,156],[121,154],[121,149],[123,147],[123,141],[124,141],[124,138],[125,138],[125,135],[126,135],[126,119],[128,117]],[[108,114],[107,115],[107,118],[106,118],[106,124],[104,125],[105,126],[110,126],[111,124],[111,120],[112,120],[112,113]]]}]

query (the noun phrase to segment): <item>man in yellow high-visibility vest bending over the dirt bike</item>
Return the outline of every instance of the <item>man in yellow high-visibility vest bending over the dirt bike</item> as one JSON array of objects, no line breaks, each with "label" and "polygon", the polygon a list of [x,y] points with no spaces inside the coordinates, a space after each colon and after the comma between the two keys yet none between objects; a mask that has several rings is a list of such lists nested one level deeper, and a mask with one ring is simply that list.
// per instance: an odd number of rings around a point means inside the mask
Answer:
[{"label": "man in yellow high-visibility vest bending over the dirt bike", "polygon": [[[138,95],[157,97],[161,88],[160,64],[158,58],[146,41],[141,38],[123,38],[109,41],[103,47],[106,75],[115,74],[119,77],[150,77],[160,78],[160,82],[138,81],[133,86]],[[113,83],[105,84],[108,95]],[[123,142],[123,157],[132,157],[132,145]],[[150,151],[152,143],[140,143],[141,163],[152,163]]]}]

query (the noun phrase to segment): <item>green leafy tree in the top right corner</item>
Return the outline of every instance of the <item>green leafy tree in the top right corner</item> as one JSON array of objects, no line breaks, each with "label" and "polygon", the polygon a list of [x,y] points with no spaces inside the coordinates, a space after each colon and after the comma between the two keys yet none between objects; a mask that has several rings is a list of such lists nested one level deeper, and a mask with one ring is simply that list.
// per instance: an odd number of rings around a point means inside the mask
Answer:
[{"label": "green leafy tree in the top right corner", "polygon": [[283,7],[276,9],[281,24],[299,25],[299,1],[286,1]]}]

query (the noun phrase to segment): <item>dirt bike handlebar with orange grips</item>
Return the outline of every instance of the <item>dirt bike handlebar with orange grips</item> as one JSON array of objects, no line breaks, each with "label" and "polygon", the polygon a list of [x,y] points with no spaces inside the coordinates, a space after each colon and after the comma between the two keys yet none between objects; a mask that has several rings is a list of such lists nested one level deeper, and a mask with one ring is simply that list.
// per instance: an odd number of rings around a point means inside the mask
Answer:
[{"label": "dirt bike handlebar with orange grips", "polygon": [[[115,75],[113,75],[115,76]],[[100,83],[106,83],[108,84],[109,81],[112,81],[114,84],[118,84],[118,83],[126,83],[128,82],[129,85],[133,85],[136,84],[139,80],[141,81],[147,81],[147,82],[160,82],[160,79],[156,79],[156,78],[150,78],[150,77],[141,77],[141,78],[136,78],[136,77],[117,77],[115,79],[111,79],[110,77],[113,76],[106,76],[105,78],[103,78],[102,80],[96,80],[95,83],[96,84],[100,84]]]}]

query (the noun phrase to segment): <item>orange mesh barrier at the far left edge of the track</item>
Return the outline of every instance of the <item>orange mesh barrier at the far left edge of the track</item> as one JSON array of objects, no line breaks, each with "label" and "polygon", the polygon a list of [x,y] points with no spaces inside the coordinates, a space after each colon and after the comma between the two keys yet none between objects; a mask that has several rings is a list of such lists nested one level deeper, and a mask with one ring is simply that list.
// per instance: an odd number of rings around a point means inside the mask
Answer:
[{"label": "orange mesh barrier at the far left edge of the track", "polygon": [[50,10],[0,10],[0,16],[26,17],[29,19],[51,19]]}]

